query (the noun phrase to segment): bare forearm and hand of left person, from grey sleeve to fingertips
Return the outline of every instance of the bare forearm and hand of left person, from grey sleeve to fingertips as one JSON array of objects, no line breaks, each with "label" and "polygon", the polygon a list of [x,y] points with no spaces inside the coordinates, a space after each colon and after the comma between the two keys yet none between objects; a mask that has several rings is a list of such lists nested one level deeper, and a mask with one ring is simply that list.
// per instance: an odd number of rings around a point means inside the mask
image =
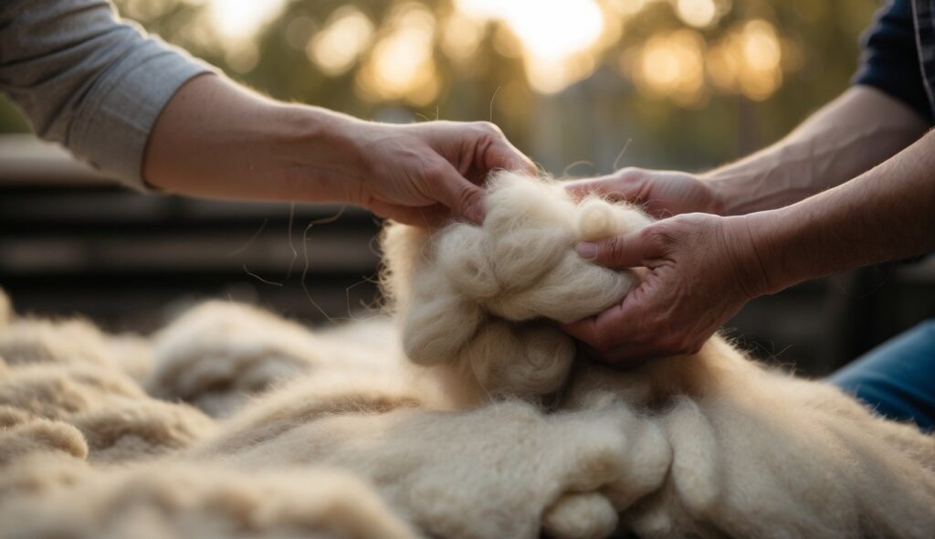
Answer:
[{"label": "bare forearm and hand of left person, from grey sleeve to fingertips", "polygon": [[365,122],[204,75],[161,112],[141,172],[165,192],[349,203],[425,226],[480,222],[494,168],[536,172],[494,124]]}]

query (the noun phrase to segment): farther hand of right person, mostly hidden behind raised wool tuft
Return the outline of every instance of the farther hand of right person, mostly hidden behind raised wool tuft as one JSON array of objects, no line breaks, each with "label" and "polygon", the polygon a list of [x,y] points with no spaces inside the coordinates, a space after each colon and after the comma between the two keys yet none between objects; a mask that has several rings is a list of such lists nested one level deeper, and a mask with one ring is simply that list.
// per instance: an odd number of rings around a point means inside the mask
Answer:
[{"label": "farther hand of right person, mostly hidden behind raised wool tuft", "polygon": [[694,211],[720,214],[723,206],[710,182],[677,170],[621,168],[607,176],[573,182],[568,191],[576,198],[595,194],[640,204],[657,219]]}]

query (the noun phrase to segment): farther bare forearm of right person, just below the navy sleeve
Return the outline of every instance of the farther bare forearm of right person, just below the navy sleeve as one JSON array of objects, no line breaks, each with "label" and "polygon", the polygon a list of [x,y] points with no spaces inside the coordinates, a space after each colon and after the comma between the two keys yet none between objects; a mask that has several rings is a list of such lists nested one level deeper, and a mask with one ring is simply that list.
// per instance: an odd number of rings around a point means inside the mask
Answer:
[{"label": "farther bare forearm of right person, just below the navy sleeve", "polygon": [[896,99],[856,86],[776,144],[704,176],[721,201],[722,214],[781,208],[885,161],[926,127]]}]

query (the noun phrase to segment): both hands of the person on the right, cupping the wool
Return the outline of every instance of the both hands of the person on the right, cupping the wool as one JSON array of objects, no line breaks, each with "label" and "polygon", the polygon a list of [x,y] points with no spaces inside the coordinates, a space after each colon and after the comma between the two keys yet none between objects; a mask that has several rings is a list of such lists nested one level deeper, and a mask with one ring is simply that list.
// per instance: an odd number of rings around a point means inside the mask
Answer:
[{"label": "both hands of the person on the right, cupping the wool", "polygon": [[566,324],[585,355],[621,365],[693,354],[750,299],[769,288],[756,234],[743,216],[721,217],[711,182],[676,171],[625,168],[572,183],[574,197],[597,194],[639,203],[660,219],[637,233],[578,245],[584,258],[640,270],[641,283],[607,311]]}]

